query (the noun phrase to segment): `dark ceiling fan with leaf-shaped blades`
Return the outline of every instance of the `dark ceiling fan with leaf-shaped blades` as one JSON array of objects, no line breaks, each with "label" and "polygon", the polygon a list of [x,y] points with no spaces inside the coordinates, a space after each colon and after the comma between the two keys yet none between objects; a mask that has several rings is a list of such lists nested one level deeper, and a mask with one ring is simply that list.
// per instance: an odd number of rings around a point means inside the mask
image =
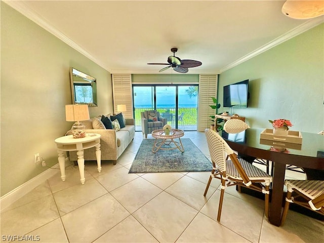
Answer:
[{"label": "dark ceiling fan with leaf-shaped blades", "polygon": [[171,52],[173,52],[173,56],[168,57],[168,63],[147,63],[153,65],[169,65],[168,67],[164,67],[159,72],[163,72],[170,67],[173,67],[173,70],[181,73],[188,72],[188,68],[197,67],[201,65],[201,62],[195,60],[181,60],[179,57],[175,56],[175,53],[178,51],[178,48],[172,48]]}]

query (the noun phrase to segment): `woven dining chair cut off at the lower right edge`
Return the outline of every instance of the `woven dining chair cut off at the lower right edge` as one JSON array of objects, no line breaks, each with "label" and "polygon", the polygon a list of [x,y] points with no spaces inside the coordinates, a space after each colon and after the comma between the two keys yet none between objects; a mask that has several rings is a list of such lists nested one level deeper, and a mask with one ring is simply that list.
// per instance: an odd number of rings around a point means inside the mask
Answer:
[{"label": "woven dining chair cut off at the lower right edge", "polygon": [[291,203],[324,215],[324,181],[286,180],[285,185],[288,192],[280,225],[285,223]]}]

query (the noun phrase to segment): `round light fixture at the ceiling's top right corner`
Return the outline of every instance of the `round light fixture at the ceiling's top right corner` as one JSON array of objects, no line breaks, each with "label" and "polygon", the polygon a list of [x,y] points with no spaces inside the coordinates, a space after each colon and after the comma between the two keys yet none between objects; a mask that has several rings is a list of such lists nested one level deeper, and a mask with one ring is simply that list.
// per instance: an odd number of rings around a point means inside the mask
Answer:
[{"label": "round light fixture at the ceiling's top right corner", "polygon": [[281,12],[293,19],[311,19],[324,14],[324,1],[287,0]]}]

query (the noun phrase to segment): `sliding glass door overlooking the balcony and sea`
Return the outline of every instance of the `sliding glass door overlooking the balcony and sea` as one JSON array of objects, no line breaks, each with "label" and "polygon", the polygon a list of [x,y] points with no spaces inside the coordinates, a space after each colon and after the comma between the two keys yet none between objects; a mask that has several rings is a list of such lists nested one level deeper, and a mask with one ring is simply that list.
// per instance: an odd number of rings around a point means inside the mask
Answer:
[{"label": "sliding glass door overlooking the balcony and sea", "polygon": [[172,128],[197,130],[198,86],[133,85],[135,129],[141,131],[141,112],[159,111]]}]

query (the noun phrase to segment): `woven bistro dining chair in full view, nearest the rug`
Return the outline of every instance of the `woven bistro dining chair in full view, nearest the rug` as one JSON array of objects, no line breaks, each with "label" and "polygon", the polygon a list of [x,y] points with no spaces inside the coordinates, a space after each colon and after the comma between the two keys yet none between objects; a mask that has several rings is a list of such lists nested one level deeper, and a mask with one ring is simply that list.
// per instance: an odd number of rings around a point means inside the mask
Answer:
[{"label": "woven bistro dining chair in full view, nearest the rug", "polygon": [[[264,193],[264,210],[265,216],[268,217],[269,185],[272,182],[272,177],[248,163],[246,160],[237,158],[236,154],[234,154],[225,140],[215,131],[206,129],[205,135],[213,163],[213,169],[204,196],[206,196],[213,178],[221,180],[221,195],[219,199],[217,221],[220,221],[221,218],[225,188],[236,185]],[[226,159],[226,155],[228,155],[230,159]]]}]

